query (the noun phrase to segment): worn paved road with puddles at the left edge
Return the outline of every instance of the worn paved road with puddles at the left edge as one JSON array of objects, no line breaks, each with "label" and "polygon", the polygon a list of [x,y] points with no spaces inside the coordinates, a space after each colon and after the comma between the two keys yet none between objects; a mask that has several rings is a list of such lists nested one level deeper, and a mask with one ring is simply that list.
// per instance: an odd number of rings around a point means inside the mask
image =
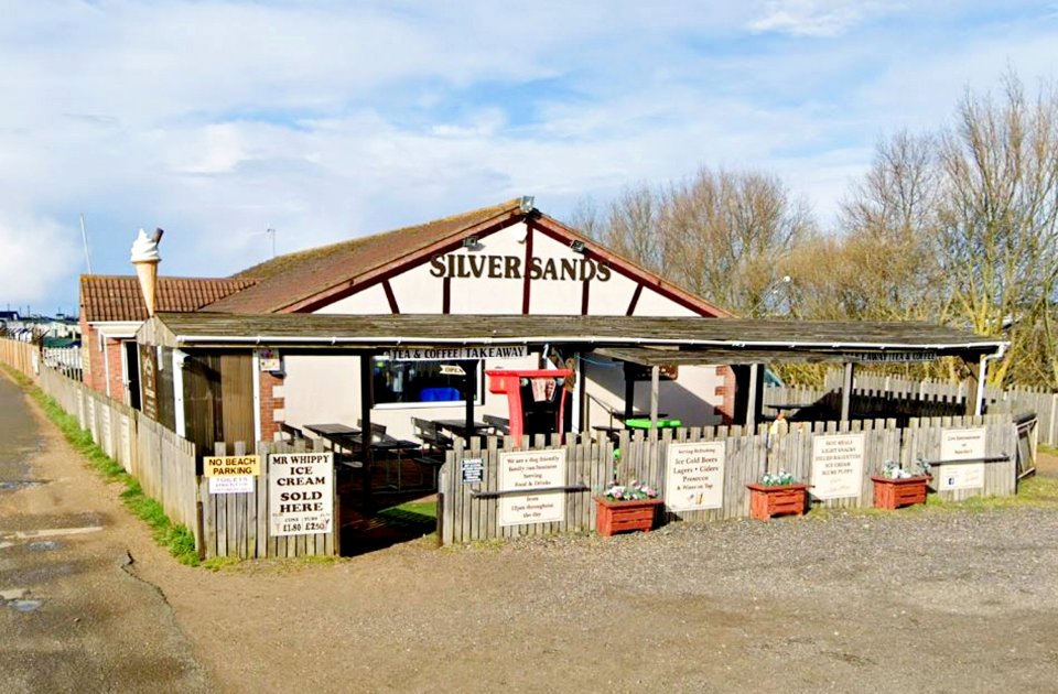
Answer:
[{"label": "worn paved road with puddles at the left edge", "polygon": [[0,373],[0,692],[205,692],[164,596],[160,550]]}]

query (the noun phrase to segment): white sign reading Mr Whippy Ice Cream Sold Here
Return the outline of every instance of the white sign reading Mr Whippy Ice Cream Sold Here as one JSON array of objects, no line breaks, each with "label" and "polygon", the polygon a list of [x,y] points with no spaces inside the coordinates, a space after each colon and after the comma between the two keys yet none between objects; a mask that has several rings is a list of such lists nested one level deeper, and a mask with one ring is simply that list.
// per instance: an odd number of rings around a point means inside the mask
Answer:
[{"label": "white sign reading Mr Whippy Ice Cream Sold Here", "polygon": [[273,536],[334,529],[334,454],[268,456],[268,520]]}]

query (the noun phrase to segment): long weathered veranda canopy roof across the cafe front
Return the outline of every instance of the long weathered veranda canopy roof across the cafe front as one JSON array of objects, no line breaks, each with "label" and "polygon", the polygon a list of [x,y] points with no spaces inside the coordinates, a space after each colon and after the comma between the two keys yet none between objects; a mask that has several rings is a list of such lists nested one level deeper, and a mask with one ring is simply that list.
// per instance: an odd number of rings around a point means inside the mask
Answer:
[{"label": "long weathered veranda canopy roof across the cafe front", "polygon": [[975,360],[1007,343],[911,322],[539,316],[160,313],[137,334],[179,349],[376,351],[475,345],[568,346],[640,364],[745,364],[777,358]]}]

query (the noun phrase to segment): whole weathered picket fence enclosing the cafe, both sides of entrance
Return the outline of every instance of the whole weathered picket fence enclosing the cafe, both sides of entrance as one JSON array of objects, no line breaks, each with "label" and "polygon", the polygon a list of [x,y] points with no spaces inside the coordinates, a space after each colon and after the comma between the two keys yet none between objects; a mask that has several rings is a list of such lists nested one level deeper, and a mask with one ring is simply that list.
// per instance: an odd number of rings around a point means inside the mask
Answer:
[{"label": "whole weathered picket fence enclosing the cafe, both sides of entrance", "polygon": [[[112,401],[74,381],[60,371],[48,368],[33,345],[0,339],[0,361],[12,366],[32,378],[66,412],[77,416],[80,425],[91,433],[93,440],[115,460],[132,474],[144,492],[156,499],[174,522],[183,523],[195,535],[196,546],[203,557],[239,556],[292,557],[334,555],[339,552],[339,505],[334,503],[333,531],[310,535],[273,538],[268,524],[268,454],[304,452],[306,446],[319,442],[258,442],[252,448],[262,456],[260,477],[253,481],[248,494],[210,495],[208,482],[196,469],[196,453],[193,444],[165,430],[156,422]],[[903,384],[902,384],[903,387]],[[817,402],[833,398],[829,391],[767,389],[765,403]],[[862,397],[870,402],[894,406],[889,391],[876,393],[863,389]],[[925,392],[925,390],[922,390]],[[1015,393],[1016,394],[1016,393]],[[810,400],[818,395],[816,400]],[[956,398],[939,389],[926,393],[926,398],[909,398],[913,404],[922,402],[948,406]],[[873,489],[871,475],[882,470],[886,460],[898,460],[905,469],[913,469],[919,459],[937,460],[940,457],[942,432],[952,429],[983,426],[986,430],[986,457],[996,458],[985,466],[982,488],[939,491],[944,499],[960,500],[969,496],[1005,496],[1016,491],[1021,470],[1015,468],[1015,454],[1023,458],[1035,452],[1035,438],[1025,435],[1018,440],[1018,426],[1024,432],[1048,430],[1054,435],[1055,409],[1046,409],[1046,398],[1055,395],[1032,393],[1039,397],[1041,416],[1029,426],[1015,425],[1011,411],[1015,404],[998,414],[984,418],[944,416],[921,419],[902,414],[902,419],[856,420],[845,423],[813,422],[791,423],[788,429],[769,434],[767,425],[756,431],[743,427],[691,427],[644,432],[624,432],[616,442],[593,438],[587,434],[568,435],[564,442],[558,437],[538,436],[522,441],[523,449],[563,448],[566,457],[566,477],[561,520],[548,523],[501,525],[499,523],[498,465],[499,456],[514,449],[509,437],[488,438],[484,444],[475,441],[464,448],[457,443],[449,452],[440,475],[439,524],[444,543],[466,543],[476,540],[511,538],[527,534],[554,534],[585,532],[595,527],[593,496],[614,476],[615,451],[617,476],[623,481],[637,478],[659,489],[665,489],[668,448],[672,443],[723,441],[725,463],[723,480],[723,506],[719,509],[663,512],[665,522],[710,521],[745,518],[749,513],[749,497],[746,485],[757,481],[766,471],[784,468],[796,478],[811,477],[811,460],[816,436],[839,433],[864,434],[864,466],[861,492],[857,497],[817,501],[828,507],[871,506]],[[1046,397],[1045,397],[1046,395]],[[908,400],[908,398],[905,398]],[[1005,401],[1019,403],[1015,397]],[[910,405],[909,405],[910,406]],[[921,408],[919,410],[921,411]],[[927,411],[929,411],[927,409]],[[904,424],[903,426],[898,424]],[[218,443],[217,454],[229,451],[241,454],[249,446],[241,443]],[[481,459],[483,479],[478,484],[463,484],[462,466],[465,459]],[[937,468],[935,468],[936,470]],[[942,469],[942,468],[941,468]],[[935,473],[936,474],[936,473]],[[335,485],[336,487],[336,485]]]}]

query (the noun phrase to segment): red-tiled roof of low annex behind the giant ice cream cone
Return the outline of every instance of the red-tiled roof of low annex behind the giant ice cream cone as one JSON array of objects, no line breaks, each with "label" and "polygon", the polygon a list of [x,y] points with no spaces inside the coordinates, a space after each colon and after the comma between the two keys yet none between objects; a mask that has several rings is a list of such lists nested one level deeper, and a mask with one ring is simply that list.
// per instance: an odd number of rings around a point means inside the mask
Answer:
[{"label": "red-tiled roof of low annex behind the giant ice cream cone", "polygon": [[[158,278],[158,310],[197,311],[252,285],[253,280],[245,278]],[[89,322],[147,319],[136,275],[80,275],[80,308]]]}]

